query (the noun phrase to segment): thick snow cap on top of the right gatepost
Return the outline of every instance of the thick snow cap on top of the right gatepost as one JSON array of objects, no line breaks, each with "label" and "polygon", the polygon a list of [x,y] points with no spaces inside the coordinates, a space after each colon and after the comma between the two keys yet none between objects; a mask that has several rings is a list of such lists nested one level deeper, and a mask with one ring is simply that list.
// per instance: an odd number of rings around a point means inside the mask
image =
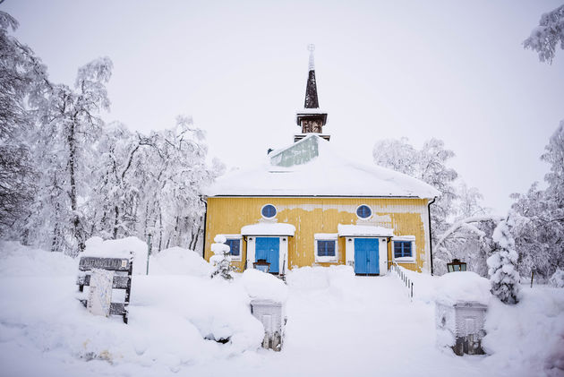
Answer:
[{"label": "thick snow cap on top of the right gatepost", "polygon": [[441,304],[471,301],[488,304],[491,298],[490,280],[475,272],[451,272],[436,279],[435,300]]}]

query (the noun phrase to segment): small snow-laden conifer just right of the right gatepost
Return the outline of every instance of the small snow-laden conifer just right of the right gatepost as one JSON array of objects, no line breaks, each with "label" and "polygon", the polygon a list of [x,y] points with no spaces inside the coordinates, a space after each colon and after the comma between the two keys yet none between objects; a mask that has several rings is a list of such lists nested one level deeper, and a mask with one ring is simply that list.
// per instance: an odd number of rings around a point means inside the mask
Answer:
[{"label": "small snow-laden conifer just right of the right gatepost", "polygon": [[513,226],[513,218],[501,221],[493,231],[493,241],[498,244],[496,250],[488,258],[490,270],[491,293],[497,296],[505,304],[517,304],[519,302],[519,272],[517,272],[518,254],[515,250],[515,240],[510,233]]}]

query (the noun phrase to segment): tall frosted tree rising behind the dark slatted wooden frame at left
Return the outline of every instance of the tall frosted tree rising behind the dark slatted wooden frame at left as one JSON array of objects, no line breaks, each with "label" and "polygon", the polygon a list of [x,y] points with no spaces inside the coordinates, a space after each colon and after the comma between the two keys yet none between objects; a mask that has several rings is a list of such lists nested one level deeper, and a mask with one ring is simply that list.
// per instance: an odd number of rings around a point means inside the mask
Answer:
[{"label": "tall frosted tree rising behind the dark slatted wooden frame at left", "polygon": [[103,125],[98,114],[109,107],[105,84],[111,69],[108,58],[94,60],[79,69],[74,89],[51,85],[45,98],[38,99],[33,151],[41,176],[26,228],[52,251],[77,255],[84,249],[84,199],[96,161],[92,146]]}]

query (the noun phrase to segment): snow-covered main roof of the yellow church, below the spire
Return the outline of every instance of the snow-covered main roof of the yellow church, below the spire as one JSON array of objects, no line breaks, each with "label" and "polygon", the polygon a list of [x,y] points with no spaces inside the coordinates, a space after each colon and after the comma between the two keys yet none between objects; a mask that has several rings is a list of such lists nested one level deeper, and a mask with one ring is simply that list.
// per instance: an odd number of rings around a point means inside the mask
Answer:
[{"label": "snow-covered main roof of the yellow church, below the spire", "polygon": [[429,184],[385,167],[365,166],[339,156],[329,141],[309,134],[272,151],[257,167],[221,176],[208,196],[368,196],[433,198]]}]

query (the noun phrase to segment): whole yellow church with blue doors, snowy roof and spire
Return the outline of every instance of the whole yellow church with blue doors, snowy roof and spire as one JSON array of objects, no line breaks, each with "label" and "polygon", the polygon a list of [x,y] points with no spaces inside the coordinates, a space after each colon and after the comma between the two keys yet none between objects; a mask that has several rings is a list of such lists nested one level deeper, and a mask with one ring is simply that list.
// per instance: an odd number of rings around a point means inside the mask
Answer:
[{"label": "whole yellow church with blue doors, snowy roof and spire", "polygon": [[312,49],[302,133],[258,166],[218,178],[206,191],[204,258],[226,236],[238,270],[272,274],[304,266],[352,266],[383,275],[396,262],[432,272],[429,207],[439,192],[411,176],[341,156],[323,133]]}]

